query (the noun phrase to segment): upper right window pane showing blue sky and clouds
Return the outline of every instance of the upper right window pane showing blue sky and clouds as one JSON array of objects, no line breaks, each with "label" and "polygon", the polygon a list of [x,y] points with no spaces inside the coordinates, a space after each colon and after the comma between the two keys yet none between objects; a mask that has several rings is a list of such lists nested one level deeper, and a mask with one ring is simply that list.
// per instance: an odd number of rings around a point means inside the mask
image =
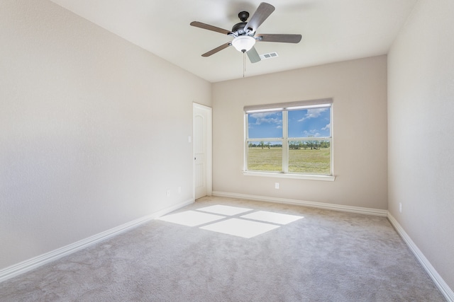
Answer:
[{"label": "upper right window pane showing blue sky and clouds", "polygon": [[331,137],[331,108],[289,111],[289,137]]}]

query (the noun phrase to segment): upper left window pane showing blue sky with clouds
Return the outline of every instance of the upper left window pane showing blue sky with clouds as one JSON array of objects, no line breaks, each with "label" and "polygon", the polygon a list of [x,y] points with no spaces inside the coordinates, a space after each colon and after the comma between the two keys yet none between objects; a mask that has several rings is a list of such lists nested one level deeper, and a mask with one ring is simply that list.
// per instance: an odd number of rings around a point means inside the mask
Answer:
[{"label": "upper left window pane showing blue sky with clouds", "polygon": [[282,137],[282,112],[248,114],[248,138],[265,139]]}]

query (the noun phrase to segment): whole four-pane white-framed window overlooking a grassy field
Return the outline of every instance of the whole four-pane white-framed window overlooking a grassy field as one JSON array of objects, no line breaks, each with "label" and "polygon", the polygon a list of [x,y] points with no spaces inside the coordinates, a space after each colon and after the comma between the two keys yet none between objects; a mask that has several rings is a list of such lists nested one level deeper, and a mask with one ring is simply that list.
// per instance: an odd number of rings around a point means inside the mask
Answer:
[{"label": "whole four-pane white-framed window overlooking a grassy field", "polygon": [[245,107],[245,174],[333,180],[332,100]]}]

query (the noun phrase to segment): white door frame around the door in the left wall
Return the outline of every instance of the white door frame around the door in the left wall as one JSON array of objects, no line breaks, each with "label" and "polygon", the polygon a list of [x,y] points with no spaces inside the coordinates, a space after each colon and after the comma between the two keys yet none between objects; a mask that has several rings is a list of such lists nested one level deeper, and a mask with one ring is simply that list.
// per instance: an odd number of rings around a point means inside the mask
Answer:
[{"label": "white door frame around the door in the left wall", "polygon": [[[192,103],[192,141],[194,143],[194,109],[206,112],[206,196],[213,194],[213,124],[212,108],[199,103]],[[194,144],[192,145],[192,158],[194,158]],[[192,199],[195,201],[195,161],[192,161]]]}]

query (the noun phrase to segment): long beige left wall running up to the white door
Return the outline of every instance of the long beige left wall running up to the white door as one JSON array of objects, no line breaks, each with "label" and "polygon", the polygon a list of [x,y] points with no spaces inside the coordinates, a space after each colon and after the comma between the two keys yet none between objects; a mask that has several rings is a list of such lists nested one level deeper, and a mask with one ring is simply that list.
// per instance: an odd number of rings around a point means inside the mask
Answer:
[{"label": "long beige left wall running up to the white door", "polygon": [[0,70],[0,269],[192,199],[210,83],[44,0],[1,1]]}]

